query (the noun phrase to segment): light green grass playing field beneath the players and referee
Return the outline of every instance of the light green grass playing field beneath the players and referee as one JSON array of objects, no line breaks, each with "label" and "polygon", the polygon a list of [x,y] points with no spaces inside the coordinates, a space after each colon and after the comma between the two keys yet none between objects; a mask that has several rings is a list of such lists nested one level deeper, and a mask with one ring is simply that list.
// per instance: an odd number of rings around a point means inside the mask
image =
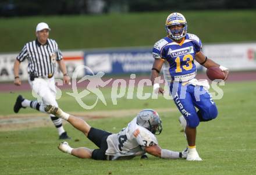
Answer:
[{"label": "light green grass playing field beneath the players and referee", "polygon": [[[197,150],[204,161],[163,160],[149,156],[147,160],[96,161],[75,158],[57,149],[56,129],[51,127],[30,128],[17,131],[0,132],[0,174],[255,174],[255,81],[226,83],[224,96],[215,100],[219,116],[217,119],[201,123],[198,127]],[[172,101],[162,97],[158,100],[127,100],[121,98],[118,105],[111,105],[109,92],[104,92],[107,106],[98,103],[93,111],[172,108],[173,112],[159,112],[163,122],[163,132],[158,142],[162,148],[182,151],[186,147],[183,134],[177,121],[180,113]],[[67,90],[67,92],[70,92]],[[150,92],[145,88],[145,92]],[[212,91],[211,91],[212,92]],[[0,93],[1,115],[13,114],[13,103],[17,94],[31,97],[30,92]],[[85,99],[93,102],[93,97]],[[63,93],[59,106],[68,112],[83,112],[76,101]],[[20,113],[35,113],[22,109]],[[133,116],[109,117],[87,121],[94,127],[113,133],[126,126]],[[83,134],[65,124],[73,147],[96,148]],[[79,141],[74,141],[74,140]]]}]

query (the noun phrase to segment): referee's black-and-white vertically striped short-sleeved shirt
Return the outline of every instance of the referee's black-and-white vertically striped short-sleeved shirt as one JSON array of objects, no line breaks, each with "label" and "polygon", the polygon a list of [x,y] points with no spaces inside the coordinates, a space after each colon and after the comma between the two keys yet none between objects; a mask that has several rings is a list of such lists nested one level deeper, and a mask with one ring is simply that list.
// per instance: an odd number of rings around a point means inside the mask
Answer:
[{"label": "referee's black-and-white vertically striped short-sleeved shirt", "polygon": [[35,76],[47,77],[55,73],[56,60],[62,59],[62,53],[58,48],[56,41],[47,39],[42,45],[37,40],[27,42],[22,51],[17,56],[19,62],[28,59],[29,65],[27,71]]}]

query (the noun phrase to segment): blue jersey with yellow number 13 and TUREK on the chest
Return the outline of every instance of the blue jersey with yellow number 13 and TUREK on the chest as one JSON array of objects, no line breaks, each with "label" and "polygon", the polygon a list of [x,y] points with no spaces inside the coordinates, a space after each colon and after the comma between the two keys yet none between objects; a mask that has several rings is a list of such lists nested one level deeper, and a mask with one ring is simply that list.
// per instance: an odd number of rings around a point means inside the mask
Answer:
[{"label": "blue jersey with yellow number 13 and TUREK on the chest", "polygon": [[201,49],[200,39],[194,34],[186,34],[180,43],[169,37],[162,38],[155,43],[152,53],[155,59],[165,60],[165,80],[188,81],[196,75],[194,59]]}]

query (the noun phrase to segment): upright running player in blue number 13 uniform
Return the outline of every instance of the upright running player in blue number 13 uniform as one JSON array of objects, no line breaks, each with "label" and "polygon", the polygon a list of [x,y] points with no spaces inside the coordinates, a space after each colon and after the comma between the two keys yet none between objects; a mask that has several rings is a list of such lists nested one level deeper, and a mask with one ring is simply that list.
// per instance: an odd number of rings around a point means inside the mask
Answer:
[{"label": "upright running player in blue number 13 uniform", "polygon": [[152,50],[155,60],[151,81],[154,91],[163,94],[157,81],[163,66],[165,81],[168,82],[172,98],[182,113],[179,121],[186,133],[189,148],[187,160],[202,160],[195,149],[196,128],[200,122],[215,119],[218,110],[208,92],[208,81],[195,79],[194,61],[206,68],[218,66],[225,73],[225,80],[229,70],[204,55],[200,39],[187,33],[187,22],[182,14],[171,13],[166,19],[165,29],[168,36],[157,41]]}]

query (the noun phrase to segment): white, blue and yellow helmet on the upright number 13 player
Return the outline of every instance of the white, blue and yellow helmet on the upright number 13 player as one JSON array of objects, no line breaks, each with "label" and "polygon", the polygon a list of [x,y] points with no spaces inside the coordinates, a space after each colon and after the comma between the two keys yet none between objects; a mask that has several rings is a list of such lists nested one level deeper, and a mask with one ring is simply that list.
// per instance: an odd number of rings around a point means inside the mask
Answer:
[{"label": "white, blue and yellow helmet on the upright number 13 player", "polygon": [[[183,25],[180,30],[170,30],[170,26]],[[187,34],[187,21],[181,13],[170,13],[165,22],[165,30],[173,40],[180,40]],[[177,35],[179,34],[179,35]]]}]

